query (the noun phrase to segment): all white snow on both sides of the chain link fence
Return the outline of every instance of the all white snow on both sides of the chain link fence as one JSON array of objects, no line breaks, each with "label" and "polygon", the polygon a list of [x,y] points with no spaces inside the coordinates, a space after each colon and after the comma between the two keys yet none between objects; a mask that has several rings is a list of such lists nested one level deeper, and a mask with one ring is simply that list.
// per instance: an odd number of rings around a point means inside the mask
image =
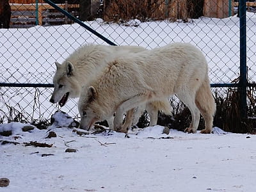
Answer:
[{"label": "all white snow on both sides of the chain link fence", "polygon": [[[247,16],[248,76],[252,79],[256,71],[256,17],[253,13]],[[122,26],[100,19],[86,23],[118,45],[152,49],[171,42],[191,42],[202,49],[209,62],[211,83],[228,83],[238,76],[237,17],[202,17],[187,24],[132,20]],[[4,66],[0,81],[9,83],[52,83],[54,61],[61,63],[81,44],[104,44],[77,24],[0,29],[0,34],[0,62]],[[56,107],[48,102],[52,91],[48,90],[37,94],[44,96],[42,108],[49,116]],[[26,92],[34,97],[33,88]],[[5,94],[10,97],[1,95],[1,99],[9,106],[16,102],[31,106],[31,95],[17,95],[13,90]],[[77,113],[76,102],[70,103],[69,109]],[[1,109],[8,113],[4,106]],[[26,109],[27,113],[35,110],[33,106]],[[10,179],[10,185],[0,191],[255,191],[255,135],[224,132],[218,127],[214,127],[214,134],[172,129],[167,135],[161,126],[136,129],[128,136],[113,131],[79,135],[74,130],[81,130],[68,125],[68,115],[60,114],[45,130],[24,132],[20,122],[1,124],[0,132],[12,131],[11,136],[0,136],[1,141],[37,141],[52,147],[0,145],[0,178]],[[47,138],[50,131],[57,137]],[[67,148],[77,152],[67,153]]]}]

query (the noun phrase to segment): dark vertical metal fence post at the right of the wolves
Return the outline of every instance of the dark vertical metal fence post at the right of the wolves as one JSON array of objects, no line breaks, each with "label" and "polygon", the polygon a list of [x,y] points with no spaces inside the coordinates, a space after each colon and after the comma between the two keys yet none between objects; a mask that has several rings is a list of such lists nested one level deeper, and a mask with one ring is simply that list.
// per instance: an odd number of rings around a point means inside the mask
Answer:
[{"label": "dark vertical metal fence post at the right of the wolves", "polygon": [[246,118],[246,0],[239,0],[241,117]]}]

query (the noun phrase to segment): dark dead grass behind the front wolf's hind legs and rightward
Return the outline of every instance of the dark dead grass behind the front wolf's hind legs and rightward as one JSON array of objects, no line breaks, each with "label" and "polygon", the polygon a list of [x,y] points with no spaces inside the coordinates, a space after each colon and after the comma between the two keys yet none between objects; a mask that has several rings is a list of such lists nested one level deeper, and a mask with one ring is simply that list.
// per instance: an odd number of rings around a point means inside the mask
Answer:
[{"label": "dark dead grass behind the front wolf's hind legs and rightward", "polygon": [[[256,128],[256,88],[249,87],[247,90],[246,111],[248,118],[241,115],[241,102],[239,88],[216,88],[213,95],[216,101],[216,114],[213,125],[224,131],[247,133],[255,132]],[[161,125],[172,129],[184,131],[189,127],[191,114],[184,104],[178,102],[173,104],[173,119],[169,116],[159,115]],[[204,119],[200,118],[198,130],[204,129]]]}]

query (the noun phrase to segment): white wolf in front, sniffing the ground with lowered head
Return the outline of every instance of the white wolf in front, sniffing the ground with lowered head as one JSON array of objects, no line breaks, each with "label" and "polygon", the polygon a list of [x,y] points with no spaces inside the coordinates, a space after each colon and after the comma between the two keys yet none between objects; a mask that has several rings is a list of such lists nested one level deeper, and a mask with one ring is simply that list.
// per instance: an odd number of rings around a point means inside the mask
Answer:
[{"label": "white wolf in front, sniffing the ground with lowered head", "polygon": [[88,129],[116,111],[114,129],[127,132],[127,127],[122,126],[124,111],[173,94],[191,111],[192,122],[185,131],[196,132],[201,113],[205,120],[201,133],[211,133],[216,104],[209,84],[207,61],[199,49],[184,43],[109,61],[102,76],[80,95],[81,127]]}]

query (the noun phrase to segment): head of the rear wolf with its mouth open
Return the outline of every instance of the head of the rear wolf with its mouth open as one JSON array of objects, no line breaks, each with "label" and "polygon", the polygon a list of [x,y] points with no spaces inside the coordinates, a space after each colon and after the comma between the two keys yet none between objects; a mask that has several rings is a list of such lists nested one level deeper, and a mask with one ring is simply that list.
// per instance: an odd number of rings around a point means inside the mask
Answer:
[{"label": "head of the rear wolf with its mouth open", "polygon": [[50,102],[59,102],[60,106],[64,106],[68,98],[79,97],[81,85],[77,82],[76,68],[69,61],[62,65],[58,62],[56,65],[56,73],[53,77],[54,91]]}]

